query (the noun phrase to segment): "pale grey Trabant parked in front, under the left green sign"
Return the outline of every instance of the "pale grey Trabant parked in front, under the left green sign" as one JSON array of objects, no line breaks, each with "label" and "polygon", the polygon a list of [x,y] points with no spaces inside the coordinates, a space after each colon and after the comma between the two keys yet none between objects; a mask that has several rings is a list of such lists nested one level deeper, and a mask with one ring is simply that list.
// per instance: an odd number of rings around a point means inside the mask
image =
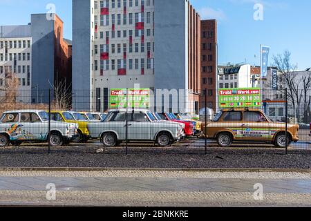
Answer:
[{"label": "pale grey Trabant parked in front, under the left green sign", "polygon": [[[126,140],[126,110],[109,111],[103,122],[89,123],[91,137],[100,138],[104,146],[117,146]],[[153,141],[169,146],[183,135],[180,124],[159,122],[148,110],[128,112],[128,140]]]}]

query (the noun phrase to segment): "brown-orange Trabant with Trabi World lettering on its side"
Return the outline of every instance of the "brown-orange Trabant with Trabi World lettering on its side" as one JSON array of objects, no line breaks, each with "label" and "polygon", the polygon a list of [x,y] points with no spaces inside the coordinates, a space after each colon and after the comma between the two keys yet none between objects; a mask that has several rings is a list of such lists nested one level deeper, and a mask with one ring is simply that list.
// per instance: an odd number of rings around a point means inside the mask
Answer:
[{"label": "brown-orange Trabant with Trabi World lettering on its side", "polygon": [[[209,139],[217,140],[223,147],[234,141],[271,142],[285,147],[285,123],[272,122],[262,111],[232,108],[220,111],[212,122],[202,124],[202,131]],[[288,142],[297,142],[299,125],[288,124]]]}]

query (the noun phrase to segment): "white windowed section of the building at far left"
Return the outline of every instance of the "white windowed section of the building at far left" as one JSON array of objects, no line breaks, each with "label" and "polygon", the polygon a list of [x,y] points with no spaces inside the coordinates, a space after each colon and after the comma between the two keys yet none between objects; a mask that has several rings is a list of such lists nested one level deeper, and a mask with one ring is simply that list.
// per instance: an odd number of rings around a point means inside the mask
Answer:
[{"label": "white windowed section of the building at far left", "polygon": [[[6,73],[19,79],[17,102],[31,102],[31,26],[0,26],[0,87]],[[3,92],[2,94],[3,95]]]}]

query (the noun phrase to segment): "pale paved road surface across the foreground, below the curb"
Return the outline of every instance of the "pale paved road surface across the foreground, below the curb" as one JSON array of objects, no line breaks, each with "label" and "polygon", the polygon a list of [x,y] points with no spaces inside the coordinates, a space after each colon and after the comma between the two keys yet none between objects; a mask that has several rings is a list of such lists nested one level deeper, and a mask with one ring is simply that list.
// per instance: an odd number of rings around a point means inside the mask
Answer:
[{"label": "pale paved road surface across the foreground, below the curb", "polygon": [[1,171],[0,205],[311,206],[311,173]]}]

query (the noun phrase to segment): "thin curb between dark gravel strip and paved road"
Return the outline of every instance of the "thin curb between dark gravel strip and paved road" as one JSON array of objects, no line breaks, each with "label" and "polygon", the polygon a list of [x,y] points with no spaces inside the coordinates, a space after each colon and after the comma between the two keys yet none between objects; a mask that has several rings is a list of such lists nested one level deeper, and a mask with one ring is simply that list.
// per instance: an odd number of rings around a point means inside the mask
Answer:
[{"label": "thin curb between dark gravel strip and paved road", "polygon": [[65,167],[0,167],[1,171],[182,171],[182,172],[294,172],[311,173],[311,169],[178,169],[178,168],[65,168]]}]

